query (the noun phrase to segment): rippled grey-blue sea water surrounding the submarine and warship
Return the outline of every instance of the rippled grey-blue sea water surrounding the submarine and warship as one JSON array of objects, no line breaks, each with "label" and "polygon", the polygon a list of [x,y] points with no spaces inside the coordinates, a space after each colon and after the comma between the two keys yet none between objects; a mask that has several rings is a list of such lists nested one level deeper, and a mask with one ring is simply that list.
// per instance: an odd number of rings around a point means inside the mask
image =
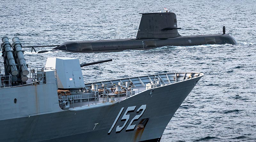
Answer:
[{"label": "rippled grey-blue sea water surrounding the submarine and warship", "polygon": [[[204,77],[174,114],[161,142],[255,142],[255,0],[5,0],[0,3],[0,36],[8,36],[10,42],[18,36],[23,46],[135,38],[139,13],[164,11],[164,7],[176,13],[180,35],[222,34],[225,26],[226,33],[238,44],[164,46],[107,53],[37,54],[24,48],[26,61],[30,67],[43,67],[47,57],[78,58],[81,63],[113,59],[83,67],[86,82],[202,72]],[[41,50],[51,47],[36,48]]]}]

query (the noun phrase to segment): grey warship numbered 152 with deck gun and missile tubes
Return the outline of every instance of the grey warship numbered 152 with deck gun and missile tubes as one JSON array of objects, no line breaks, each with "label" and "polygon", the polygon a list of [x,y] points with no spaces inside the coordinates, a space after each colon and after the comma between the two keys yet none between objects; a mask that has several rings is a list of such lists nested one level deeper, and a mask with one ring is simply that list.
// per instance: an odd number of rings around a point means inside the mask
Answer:
[{"label": "grey warship numbered 152 with deck gun and missile tubes", "polygon": [[[18,37],[2,38],[0,141],[159,142],[198,72],[85,83],[79,59],[28,67]],[[3,66],[3,65],[2,65]],[[86,80],[88,82],[88,80]]]}]

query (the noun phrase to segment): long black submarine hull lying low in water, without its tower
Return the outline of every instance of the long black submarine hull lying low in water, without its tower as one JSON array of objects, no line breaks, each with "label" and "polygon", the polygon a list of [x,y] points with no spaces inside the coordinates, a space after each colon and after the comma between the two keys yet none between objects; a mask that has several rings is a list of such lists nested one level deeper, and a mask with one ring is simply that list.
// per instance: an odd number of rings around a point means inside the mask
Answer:
[{"label": "long black submarine hull lying low in water, without its tower", "polygon": [[203,44],[236,44],[235,39],[224,35],[179,36],[173,38],[136,38],[99,41],[66,42],[53,48],[68,52],[113,52],[144,50],[162,46],[189,46]]}]

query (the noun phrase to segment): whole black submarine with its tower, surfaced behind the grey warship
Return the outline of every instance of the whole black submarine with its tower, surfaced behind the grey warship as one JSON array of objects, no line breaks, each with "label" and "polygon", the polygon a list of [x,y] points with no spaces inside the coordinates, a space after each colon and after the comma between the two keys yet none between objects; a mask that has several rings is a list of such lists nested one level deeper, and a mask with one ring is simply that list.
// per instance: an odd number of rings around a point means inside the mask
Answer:
[{"label": "whole black submarine with its tower, surfaced behind the grey warship", "polygon": [[173,12],[142,14],[136,38],[117,40],[65,42],[53,50],[67,52],[112,52],[145,50],[161,46],[189,46],[203,44],[237,44],[228,34],[181,36],[178,32],[176,14]]}]

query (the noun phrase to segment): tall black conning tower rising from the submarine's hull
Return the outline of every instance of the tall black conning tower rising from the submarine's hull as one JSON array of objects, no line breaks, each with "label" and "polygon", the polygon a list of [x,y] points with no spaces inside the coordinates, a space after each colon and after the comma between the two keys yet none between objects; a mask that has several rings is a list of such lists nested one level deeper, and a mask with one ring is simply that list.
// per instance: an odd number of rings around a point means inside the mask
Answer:
[{"label": "tall black conning tower rising from the submarine's hull", "polygon": [[176,14],[173,12],[142,14],[137,38],[172,38],[178,33]]}]

